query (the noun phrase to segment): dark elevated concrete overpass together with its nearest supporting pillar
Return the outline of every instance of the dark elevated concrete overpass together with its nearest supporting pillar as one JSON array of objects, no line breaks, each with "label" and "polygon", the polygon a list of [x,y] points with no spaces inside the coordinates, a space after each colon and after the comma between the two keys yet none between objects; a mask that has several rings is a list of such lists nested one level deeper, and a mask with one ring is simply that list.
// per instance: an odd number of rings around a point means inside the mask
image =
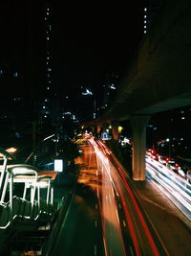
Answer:
[{"label": "dark elevated concrete overpass together with its nearest supporting pillar", "polygon": [[131,121],[135,180],[145,179],[150,116],[186,105],[191,105],[191,0],[167,0],[124,72],[116,100],[97,120]]}]

